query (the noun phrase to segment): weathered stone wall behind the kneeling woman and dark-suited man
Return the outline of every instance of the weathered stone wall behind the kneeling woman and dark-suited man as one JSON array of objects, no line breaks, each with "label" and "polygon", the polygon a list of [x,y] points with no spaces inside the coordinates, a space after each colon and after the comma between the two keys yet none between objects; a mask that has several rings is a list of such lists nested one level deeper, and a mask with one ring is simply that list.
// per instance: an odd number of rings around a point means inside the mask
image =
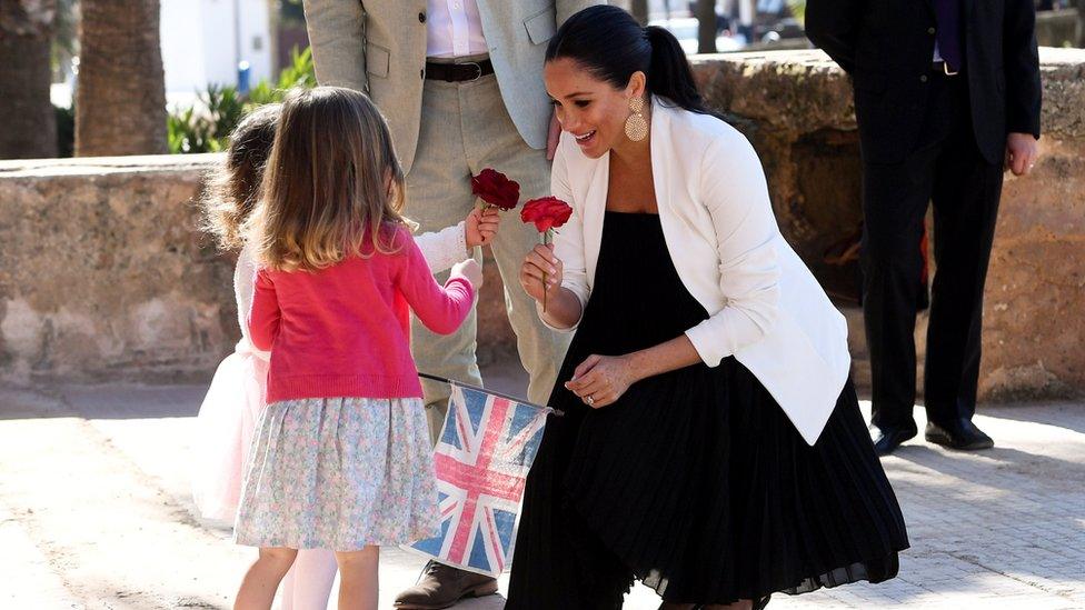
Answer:
[{"label": "weathered stone wall behind the kneeling woman and dark-suited man", "polygon": [[[1041,63],[1043,157],[1031,176],[1006,176],[984,311],[985,399],[1085,392],[1085,50],[1044,48]],[[837,302],[854,304],[856,263],[826,262],[862,220],[847,76],[820,51],[705,57],[694,68],[762,156],[788,241]],[[852,330],[862,382],[862,324]]]}]

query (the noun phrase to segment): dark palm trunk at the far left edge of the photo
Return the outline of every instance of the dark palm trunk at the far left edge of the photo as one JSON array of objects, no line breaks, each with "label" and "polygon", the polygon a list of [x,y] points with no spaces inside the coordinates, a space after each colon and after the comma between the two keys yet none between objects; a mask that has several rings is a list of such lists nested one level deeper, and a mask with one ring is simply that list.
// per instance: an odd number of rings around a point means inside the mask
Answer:
[{"label": "dark palm trunk at the far left edge of the photo", "polygon": [[57,156],[49,100],[54,0],[0,0],[0,159]]}]

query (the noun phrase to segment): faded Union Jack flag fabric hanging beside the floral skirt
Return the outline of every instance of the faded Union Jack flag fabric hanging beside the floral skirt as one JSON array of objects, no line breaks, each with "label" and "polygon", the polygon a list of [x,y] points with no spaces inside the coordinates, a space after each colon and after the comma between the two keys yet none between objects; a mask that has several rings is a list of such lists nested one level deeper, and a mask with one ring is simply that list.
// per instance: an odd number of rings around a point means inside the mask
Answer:
[{"label": "faded Union Jack flag fabric hanging beside the floral skirt", "polygon": [[553,409],[451,386],[434,449],[441,533],[406,548],[497,577],[512,559],[524,483]]}]

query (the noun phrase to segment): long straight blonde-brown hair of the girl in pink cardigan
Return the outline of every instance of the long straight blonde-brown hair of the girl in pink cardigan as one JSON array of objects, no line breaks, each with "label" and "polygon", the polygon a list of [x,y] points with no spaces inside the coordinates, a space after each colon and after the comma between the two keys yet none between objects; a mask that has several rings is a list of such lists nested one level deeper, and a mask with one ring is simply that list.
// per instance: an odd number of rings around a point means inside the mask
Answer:
[{"label": "long straight blonde-brown hair of the girl in pink cardigan", "polygon": [[257,260],[315,271],[349,256],[392,253],[404,218],[404,170],[388,124],[365,94],[291,91],[282,103],[263,200],[248,222]]}]

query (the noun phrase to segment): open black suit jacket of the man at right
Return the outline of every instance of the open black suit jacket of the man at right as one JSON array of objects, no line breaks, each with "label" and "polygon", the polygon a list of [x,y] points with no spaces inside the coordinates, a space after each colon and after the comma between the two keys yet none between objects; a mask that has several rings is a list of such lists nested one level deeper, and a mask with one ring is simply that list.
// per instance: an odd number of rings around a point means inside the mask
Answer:
[{"label": "open black suit jacket of the man at right", "polygon": [[[1006,134],[1039,137],[1039,59],[1033,0],[962,0],[965,69],[976,143],[1003,162]],[[933,0],[808,0],[806,34],[853,78],[868,161],[915,150],[933,78]]]}]

